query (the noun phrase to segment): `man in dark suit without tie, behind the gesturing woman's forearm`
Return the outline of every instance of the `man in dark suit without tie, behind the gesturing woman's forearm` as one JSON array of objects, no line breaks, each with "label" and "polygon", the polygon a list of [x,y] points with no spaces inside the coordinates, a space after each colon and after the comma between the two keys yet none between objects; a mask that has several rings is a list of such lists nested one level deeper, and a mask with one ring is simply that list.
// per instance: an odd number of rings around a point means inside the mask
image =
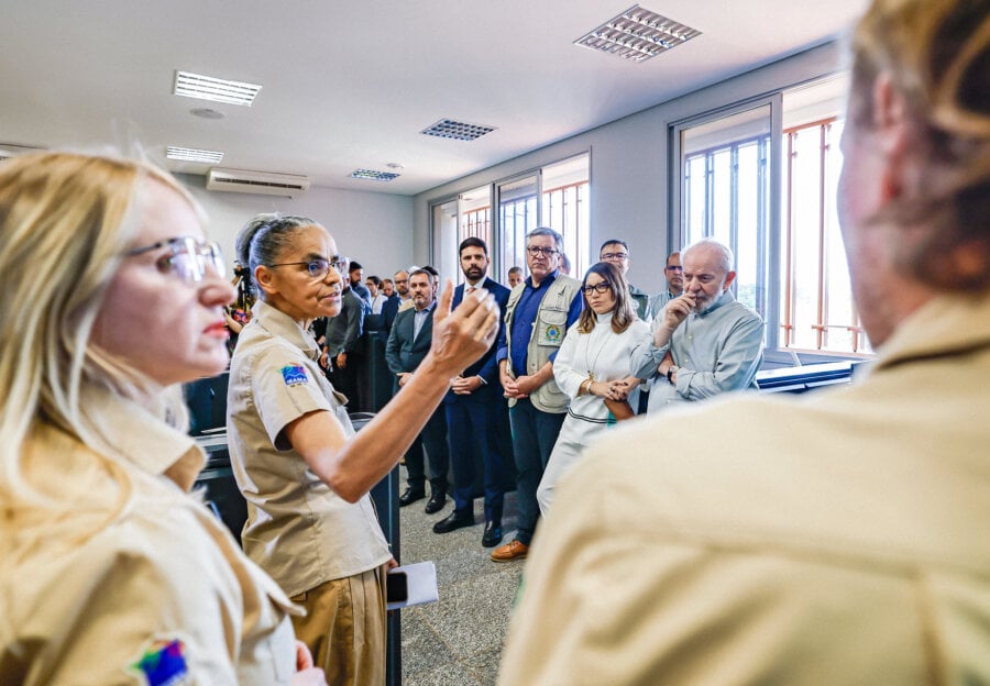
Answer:
[{"label": "man in dark suit without tie, behind the gesturing woman's forearm", "polygon": [[[406,385],[409,377],[430,351],[433,339],[433,286],[430,275],[417,269],[409,275],[413,307],[399,312],[385,344],[385,362],[395,374],[395,392]],[[399,496],[399,507],[426,497],[424,450],[430,462],[430,501],[427,512],[436,512],[447,501],[447,471],[450,453],[447,446],[447,420],[443,406],[427,421],[420,434],[406,452],[407,487]]]}]

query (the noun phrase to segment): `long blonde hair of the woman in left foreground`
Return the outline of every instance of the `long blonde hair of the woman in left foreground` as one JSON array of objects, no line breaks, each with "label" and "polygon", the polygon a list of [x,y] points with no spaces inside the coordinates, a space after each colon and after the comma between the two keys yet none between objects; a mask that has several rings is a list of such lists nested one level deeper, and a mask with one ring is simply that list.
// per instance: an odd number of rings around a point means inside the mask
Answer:
[{"label": "long blonde hair of the woman in left foreground", "polygon": [[[42,153],[0,165],[0,495],[9,502],[59,507],[24,479],[25,443],[38,423],[106,455],[112,449],[84,407],[87,395],[109,388],[136,401],[151,390],[140,374],[89,343],[139,229],[143,179],[189,199],[170,176],[142,162]],[[125,500],[128,479],[112,460],[106,468],[124,486]]]}]

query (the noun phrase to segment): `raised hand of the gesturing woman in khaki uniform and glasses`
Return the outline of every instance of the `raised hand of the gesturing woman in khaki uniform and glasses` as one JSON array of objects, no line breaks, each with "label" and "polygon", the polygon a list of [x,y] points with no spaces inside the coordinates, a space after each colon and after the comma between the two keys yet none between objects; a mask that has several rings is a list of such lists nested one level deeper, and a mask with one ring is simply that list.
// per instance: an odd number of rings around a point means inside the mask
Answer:
[{"label": "raised hand of the gesturing woman in khaki uniform and glasses", "polygon": [[492,347],[501,314],[495,297],[483,288],[466,296],[454,311],[450,310],[452,300],[453,283],[447,279],[433,312],[429,357],[450,378],[461,374]]}]

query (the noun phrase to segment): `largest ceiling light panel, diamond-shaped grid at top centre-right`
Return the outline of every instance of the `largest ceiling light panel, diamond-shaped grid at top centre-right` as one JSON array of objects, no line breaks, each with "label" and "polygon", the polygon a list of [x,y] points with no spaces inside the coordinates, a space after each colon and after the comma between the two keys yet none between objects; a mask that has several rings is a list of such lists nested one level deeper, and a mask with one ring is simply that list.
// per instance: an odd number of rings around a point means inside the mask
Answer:
[{"label": "largest ceiling light panel, diamond-shaped grid at top centre-right", "polygon": [[646,62],[697,35],[701,31],[634,4],[574,44],[632,62]]}]

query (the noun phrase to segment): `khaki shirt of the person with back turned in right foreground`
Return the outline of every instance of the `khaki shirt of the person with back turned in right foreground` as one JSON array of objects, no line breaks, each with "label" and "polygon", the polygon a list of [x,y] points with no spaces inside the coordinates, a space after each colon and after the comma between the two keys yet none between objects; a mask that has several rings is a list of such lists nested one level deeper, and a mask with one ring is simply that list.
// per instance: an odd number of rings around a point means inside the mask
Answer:
[{"label": "khaki shirt of the person with back turned in right foreground", "polygon": [[629,423],[540,525],[501,684],[990,684],[990,297],[850,386]]}]

